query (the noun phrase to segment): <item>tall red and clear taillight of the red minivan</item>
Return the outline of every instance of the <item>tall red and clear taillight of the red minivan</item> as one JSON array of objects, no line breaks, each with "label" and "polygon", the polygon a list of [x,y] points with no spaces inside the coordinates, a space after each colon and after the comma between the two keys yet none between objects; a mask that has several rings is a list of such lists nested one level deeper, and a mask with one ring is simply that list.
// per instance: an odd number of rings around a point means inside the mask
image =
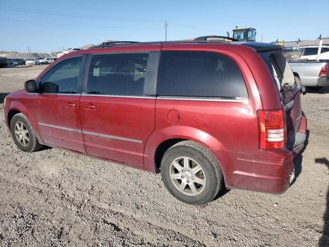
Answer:
[{"label": "tall red and clear taillight of the red minivan", "polygon": [[259,110],[260,149],[284,148],[286,126],[283,109]]}]

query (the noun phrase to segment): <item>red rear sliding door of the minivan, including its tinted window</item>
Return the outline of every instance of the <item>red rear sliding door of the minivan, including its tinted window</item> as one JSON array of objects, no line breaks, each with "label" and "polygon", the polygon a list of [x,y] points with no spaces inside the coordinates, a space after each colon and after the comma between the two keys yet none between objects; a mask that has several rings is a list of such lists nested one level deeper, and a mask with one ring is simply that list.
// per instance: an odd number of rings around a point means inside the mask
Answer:
[{"label": "red rear sliding door of the minivan, including its tinted window", "polygon": [[80,99],[88,154],[143,166],[145,142],[155,129],[160,46],[153,49],[88,57]]}]

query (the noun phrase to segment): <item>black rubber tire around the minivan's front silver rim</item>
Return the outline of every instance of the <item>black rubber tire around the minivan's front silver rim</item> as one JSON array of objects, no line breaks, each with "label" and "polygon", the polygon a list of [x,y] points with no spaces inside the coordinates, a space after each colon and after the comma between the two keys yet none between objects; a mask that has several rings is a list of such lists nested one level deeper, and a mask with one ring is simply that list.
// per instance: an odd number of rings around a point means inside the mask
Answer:
[{"label": "black rubber tire around the minivan's front silver rim", "polygon": [[[18,137],[16,137],[15,134],[15,125],[20,125],[20,123],[23,123],[23,125],[25,126],[25,130],[28,131],[28,144],[25,146],[23,143],[21,143],[18,139]],[[27,118],[25,117],[25,115],[23,113],[19,113],[16,114],[12,117],[11,121],[10,121],[10,133],[11,136],[17,146],[17,148],[21,149],[22,151],[25,152],[34,152],[36,150],[39,150],[40,148],[42,148],[43,145],[41,145],[38,142],[38,138],[36,138],[36,135],[30,125],[30,122],[27,120]],[[27,142],[27,140],[26,140]]]}]

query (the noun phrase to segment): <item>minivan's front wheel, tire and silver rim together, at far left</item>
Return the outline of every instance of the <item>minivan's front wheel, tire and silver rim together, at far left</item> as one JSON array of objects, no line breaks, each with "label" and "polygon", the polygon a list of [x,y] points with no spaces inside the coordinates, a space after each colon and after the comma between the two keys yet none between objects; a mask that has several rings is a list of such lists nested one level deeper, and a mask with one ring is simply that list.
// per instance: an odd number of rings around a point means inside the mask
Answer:
[{"label": "minivan's front wheel, tire and silver rim together, at far left", "polygon": [[10,121],[10,132],[17,148],[25,152],[34,152],[42,147],[23,113],[16,114],[12,117]]}]

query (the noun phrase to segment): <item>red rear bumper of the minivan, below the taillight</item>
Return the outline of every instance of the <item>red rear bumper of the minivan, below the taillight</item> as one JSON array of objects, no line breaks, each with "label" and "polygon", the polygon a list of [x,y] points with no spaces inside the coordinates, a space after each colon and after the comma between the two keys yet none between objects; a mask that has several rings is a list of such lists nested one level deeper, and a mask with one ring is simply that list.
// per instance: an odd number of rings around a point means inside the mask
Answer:
[{"label": "red rear bumper of the minivan, below the taillight", "polygon": [[[223,154],[229,153],[223,161]],[[288,149],[260,150],[258,155],[218,151],[216,154],[223,168],[227,188],[281,194],[289,188],[294,155]],[[225,159],[225,158],[224,158]],[[224,162],[228,166],[224,165]]]}]

